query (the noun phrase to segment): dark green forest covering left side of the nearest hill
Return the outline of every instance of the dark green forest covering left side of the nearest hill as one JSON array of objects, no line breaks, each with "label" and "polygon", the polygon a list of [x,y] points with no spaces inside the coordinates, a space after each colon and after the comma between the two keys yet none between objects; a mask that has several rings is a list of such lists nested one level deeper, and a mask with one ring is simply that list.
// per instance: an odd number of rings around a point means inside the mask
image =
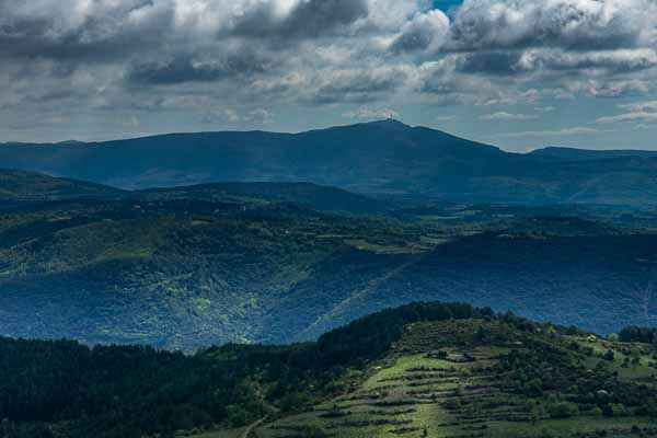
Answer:
[{"label": "dark green forest covering left side of the nearest hill", "polygon": [[0,418],[35,428],[71,420],[71,437],[240,427],[269,413],[269,404],[291,411],[330,394],[342,370],[378,358],[408,323],[481,316],[493,314],[466,304],[415,303],[358,320],[319,343],[227,345],[193,356],[0,338]]}]

